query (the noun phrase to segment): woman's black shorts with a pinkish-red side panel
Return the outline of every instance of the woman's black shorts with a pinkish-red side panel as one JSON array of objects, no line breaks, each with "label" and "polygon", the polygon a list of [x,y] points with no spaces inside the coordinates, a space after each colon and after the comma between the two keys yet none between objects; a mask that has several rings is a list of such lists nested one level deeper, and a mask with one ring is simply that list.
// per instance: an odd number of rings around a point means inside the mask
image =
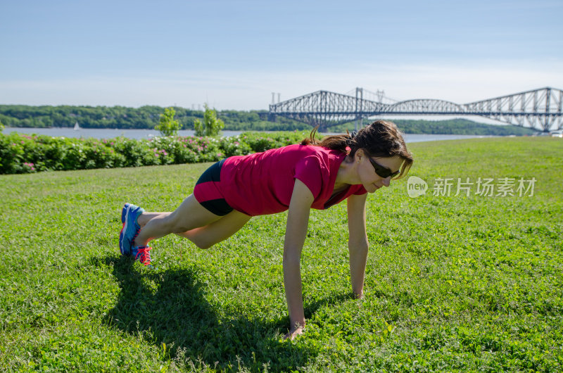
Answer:
[{"label": "woman's black shorts with a pinkish-red side panel", "polygon": [[201,206],[219,216],[227,215],[233,210],[221,194],[221,167],[223,163],[224,160],[220,160],[205,170],[196,182],[196,187],[194,187],[194,197]]}]

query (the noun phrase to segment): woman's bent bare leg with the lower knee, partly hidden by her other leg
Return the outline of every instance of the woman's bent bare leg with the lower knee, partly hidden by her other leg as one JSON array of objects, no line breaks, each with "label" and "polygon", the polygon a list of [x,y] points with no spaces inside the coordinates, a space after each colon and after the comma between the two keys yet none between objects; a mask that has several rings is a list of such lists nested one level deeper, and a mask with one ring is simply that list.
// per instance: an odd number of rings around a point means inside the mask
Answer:
[{"label": "woman's bent bare leg with the lower knee, partly hidden by her other leg", "polygon": [[[171,213],[143,213],[139,216],[137,222],[144,227],[146,223],[153,220],[160,215],[170,215]],[[176,233],[178,236],[185,237],[193,242],[198,248],[210,248],[220,241],[228,239],[241,229],[250,216],[239,211],[233,210],[227,215],[224,215],[219,220],[215,220],[204,227],[194,228],[186,232]]]}]

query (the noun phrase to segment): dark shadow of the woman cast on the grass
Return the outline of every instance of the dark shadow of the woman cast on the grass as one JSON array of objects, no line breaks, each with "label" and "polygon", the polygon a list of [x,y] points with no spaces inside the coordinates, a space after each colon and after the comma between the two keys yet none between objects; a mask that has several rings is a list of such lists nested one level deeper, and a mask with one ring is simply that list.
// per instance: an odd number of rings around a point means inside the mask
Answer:
[{"label": "dark shadow of the woman cast on the grass", "polygon": [[[203,362],[212,369],[246,367],[252,371],[261,371],[265,365],[274,371],[298,369],[315,358],[316,352],[303,343],[280,341],[279,332],[285,331],[289,322],[286,317],[274,322],[217,317],[194,270],[140,269],[127,257],[94,261],[95,265],[113,267],[121,287],[106,322],[130,334],[141,334],[157,346],[165,343],[170,358],[196,366]],[[346,298],[324,298],[305,312],[310,315],[322,304]]]}]

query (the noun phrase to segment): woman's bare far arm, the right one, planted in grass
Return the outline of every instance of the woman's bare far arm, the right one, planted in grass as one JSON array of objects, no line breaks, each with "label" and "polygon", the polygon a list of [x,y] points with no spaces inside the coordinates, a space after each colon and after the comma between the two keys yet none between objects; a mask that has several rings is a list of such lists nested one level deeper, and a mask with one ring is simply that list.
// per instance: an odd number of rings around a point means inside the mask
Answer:
[{"label": "woman's bare far arm, the right one, planted in grass", "polygon": [[369,244],[365,232],[365,200],[367,194],[348,197],[348,251],[350,252],[350,281],[356,298],[364,296],[364,276]]}]

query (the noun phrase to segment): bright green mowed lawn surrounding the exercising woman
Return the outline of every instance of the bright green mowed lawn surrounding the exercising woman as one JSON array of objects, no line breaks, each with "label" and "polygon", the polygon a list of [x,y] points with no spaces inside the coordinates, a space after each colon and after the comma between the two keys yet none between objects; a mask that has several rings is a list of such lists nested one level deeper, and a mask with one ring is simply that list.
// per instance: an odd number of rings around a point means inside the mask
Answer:
[{"label": "bright green mowed lawn surrounding the exercising woman", "polygon": [[[153,269],[120,257],[123,203],[173,210],[209,164],[1,176],[0,368],[563,369],[563,141],[410,148],[430,189],[409,198],[403,179],[368,197],[364,300],[350,296],[346,203],[312,211],[295,341],[282,340],[286,214],[207,251],[153,241]],[[533,196],[434,196],[438,177],[537,181]]]}]

